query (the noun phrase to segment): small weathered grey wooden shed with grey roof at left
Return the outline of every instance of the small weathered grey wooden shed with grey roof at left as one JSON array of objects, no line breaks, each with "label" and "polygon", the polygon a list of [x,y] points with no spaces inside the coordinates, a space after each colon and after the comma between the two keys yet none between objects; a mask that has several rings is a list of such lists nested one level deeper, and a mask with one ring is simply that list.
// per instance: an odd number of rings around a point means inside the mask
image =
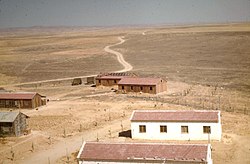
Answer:
[{"label": "small weathered grey wooden shed with grey roof at left", "polygon": [[21,112],[0,112],[0,136],[21,136],[27,132],[27,115]]}]

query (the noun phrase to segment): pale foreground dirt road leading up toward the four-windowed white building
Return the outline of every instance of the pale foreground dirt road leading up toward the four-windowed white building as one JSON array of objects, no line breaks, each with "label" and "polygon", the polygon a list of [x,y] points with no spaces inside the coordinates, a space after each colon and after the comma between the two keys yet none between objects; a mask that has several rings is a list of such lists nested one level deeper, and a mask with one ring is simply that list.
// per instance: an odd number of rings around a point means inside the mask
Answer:
[{"label": "pale foreground dirt road leading up toward the four-windowed white building", "polygon": [[[124,118],[123,125],[124,129],[128,129],[129,126],[128,118]],[[23,161],[20,161],[20,163],[48,163],[48,160],[50,163],[56,163],[58,159],[60,159],[63,156],[66,156],[67,154],[70,155],[73,152],[76,152],[80,149],[83,141],[94,141],[98,139],[100,141],[112,139],[112,136],[117,137],[118,132],[121,131],[121,121],[115,120],[110,122],[110,125],[106,125],[103,127],[99,127],[95,130],[91,131],[85,131],[81,135],[77,135],[74,137],[65,138],[61,142],[58,142],[54,145],[52,145],[47,150],[44,150],[42,152],[37,152],[37,154],[33,154],[28,159],[24,159]],[[108,136],[108,131],[111,129],[111,138]],[[107,135],[105,135],[107,134]],[[122,138],[121,138],[122,139]],[[19,161],[18,161],[19,163]]]}]

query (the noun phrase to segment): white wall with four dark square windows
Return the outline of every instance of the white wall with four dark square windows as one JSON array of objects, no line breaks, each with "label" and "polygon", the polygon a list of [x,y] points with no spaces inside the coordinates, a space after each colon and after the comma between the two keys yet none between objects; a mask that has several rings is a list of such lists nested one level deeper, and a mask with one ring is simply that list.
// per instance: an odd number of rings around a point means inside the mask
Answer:
[{"label": "white wall with four dark square windows", "polygon": [[[146,133],[139,132],[139,125],[146,125]],[[167,133],[160,133],[160,125],[167,126]],[[188,133],[181,133],[181,126],[188,126]],[[190,122],[131,122],[133,139],[152,140],[208,140],[208,134],[203,133],[203,126],[211,127],[211,140],[221,140],[221,124],[190,123]]]}]

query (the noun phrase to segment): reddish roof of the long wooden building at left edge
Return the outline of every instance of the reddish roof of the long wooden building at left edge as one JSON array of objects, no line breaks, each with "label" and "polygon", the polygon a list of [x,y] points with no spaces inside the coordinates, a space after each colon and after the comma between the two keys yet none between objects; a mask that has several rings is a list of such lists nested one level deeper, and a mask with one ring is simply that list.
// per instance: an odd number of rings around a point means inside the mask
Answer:
[{"label": "reddish roof of the long wooden building at left edge", "polygon": [[26,100],[26,99],[33,99],[33,97],[36,95],[36,92],[18,92],[18,93],[12,93],[12,92],[0,92],[0,99],[11,99],[11,100]]}]

